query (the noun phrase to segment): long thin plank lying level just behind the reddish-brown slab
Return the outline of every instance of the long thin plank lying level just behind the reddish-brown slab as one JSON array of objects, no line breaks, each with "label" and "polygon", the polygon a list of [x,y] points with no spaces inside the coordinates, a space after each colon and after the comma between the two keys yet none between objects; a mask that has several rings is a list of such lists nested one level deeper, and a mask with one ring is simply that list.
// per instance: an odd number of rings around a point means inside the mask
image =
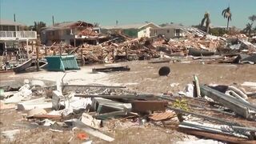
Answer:
[{"label": "long thin plank lying level just behind the reddish-brown slab", "polygon": [[123,95],[93,95],[93,94],[74,94],[74,97],[82,98],[108,98],[108,99],[149,99],[154,98],[154,94],[123,94]]}]

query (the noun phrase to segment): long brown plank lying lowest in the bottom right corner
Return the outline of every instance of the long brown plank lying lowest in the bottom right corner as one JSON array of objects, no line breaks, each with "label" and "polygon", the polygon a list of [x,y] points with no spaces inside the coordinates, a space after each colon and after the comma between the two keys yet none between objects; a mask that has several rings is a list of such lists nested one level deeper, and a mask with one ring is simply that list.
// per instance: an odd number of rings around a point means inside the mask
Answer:
[{"label": "long brown plank lying lowest in the bottom right corner", "polygon": [[179,130],[186,134],[193,134],[197,136],[202,136],[204,138],[217,139],[225,142],[246,143],[246,144],[254,144],[256,142],[256,141],[249,141],[246,138],[237,138],[237,137],[226,135],[226,134],[214,134],[214,133],[209,133],[201,130],[191,130],[186,128],[179,128]]}]

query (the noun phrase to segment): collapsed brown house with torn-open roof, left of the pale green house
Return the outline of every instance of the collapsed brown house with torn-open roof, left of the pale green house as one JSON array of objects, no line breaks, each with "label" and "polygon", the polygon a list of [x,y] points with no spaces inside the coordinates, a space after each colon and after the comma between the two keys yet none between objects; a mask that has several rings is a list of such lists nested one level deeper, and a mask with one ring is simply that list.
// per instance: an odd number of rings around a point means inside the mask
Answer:
[{"label": "collapsed brown house with torn-open roof, left of the pale green house", "polygon": [[88,22],[62,22],[45,27],[41,32],[41,42],[46,46],[54,42],[64,42],[71,46],[79,46],[85,42],[96,45],[106,39],[100,32],[99,27]]}]

